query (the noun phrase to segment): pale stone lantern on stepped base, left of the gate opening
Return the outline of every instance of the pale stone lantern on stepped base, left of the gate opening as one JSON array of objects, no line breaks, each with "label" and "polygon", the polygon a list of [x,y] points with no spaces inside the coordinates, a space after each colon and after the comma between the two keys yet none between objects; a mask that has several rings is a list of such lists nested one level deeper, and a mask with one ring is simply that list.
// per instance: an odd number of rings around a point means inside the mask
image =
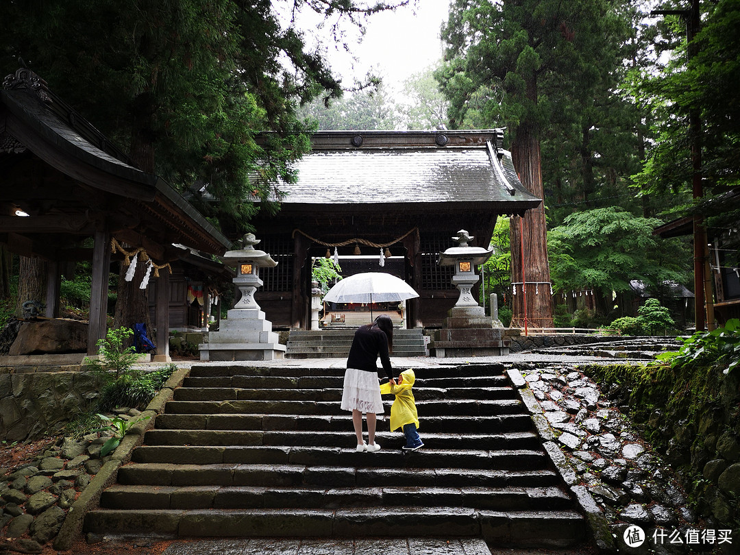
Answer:
[{"label": "pale stone lantern on stepped base, left of the gate opening", "polygon": [[232,280],[240,292],[234,308],[221,320],[218,332],[209,332],[207,342],[198,347],[201,360],[275,360],[283,358],[286,346],[278,343],[272,322],[255,300],[255,291],[262,286],[260,268],[272,268],[277,262],[264,251],[255,249],[260,241],[252,233],[240,240],[240,249],[227,251],[221,257],[226,266],[236,267]]}]

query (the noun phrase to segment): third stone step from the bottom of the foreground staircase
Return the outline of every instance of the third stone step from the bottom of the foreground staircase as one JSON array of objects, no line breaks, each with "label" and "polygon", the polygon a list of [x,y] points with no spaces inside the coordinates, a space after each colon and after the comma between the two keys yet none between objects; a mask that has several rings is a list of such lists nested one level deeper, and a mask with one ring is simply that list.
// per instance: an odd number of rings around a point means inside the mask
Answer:
[{"label": "third stone step from the bottom of the foreground staircase", "polygon": [[[121,485],[192,486],[272,486],[335,487],[337,477],[354,477],[358,488],[403,487],[408,475],[392,467],[337,468],[337,476],[306,465],[287,464],[170,464],[164,462],[132,462],[118,470]],[[559,483],[559,476],[549,468],[414,468],[414,485],[451,488],[548,488]],[[334,480],[332,482],[332,480]],[[346,482],[345,482],[346,483]],[[348,486],[349,487],[349,486]]]}]

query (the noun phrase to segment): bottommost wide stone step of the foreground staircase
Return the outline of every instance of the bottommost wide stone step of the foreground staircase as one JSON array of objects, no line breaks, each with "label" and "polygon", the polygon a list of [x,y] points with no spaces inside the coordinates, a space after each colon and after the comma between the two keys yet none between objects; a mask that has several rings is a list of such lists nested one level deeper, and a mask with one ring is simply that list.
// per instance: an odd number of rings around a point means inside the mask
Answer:
[{"label": "bottommost wide stone step of the foreground staircase", "polygon": [[567,546],[585,537],[575,511],[488,511],[467,507],[340,509],[100,509],[87,531],[162,536],[366,537],[482,536],[488,542]]}]

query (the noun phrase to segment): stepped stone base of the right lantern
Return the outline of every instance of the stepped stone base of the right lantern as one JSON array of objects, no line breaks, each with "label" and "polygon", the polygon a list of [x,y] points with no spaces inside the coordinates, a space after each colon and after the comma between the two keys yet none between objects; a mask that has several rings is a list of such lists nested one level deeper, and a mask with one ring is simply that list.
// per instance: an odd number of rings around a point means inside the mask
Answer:
[{"label": "stepped stone base of the right lantern", "polygon": [[508,354],[504,328],[494,328],[494,319],[482,306],[454,306],[442,329],[434,330],[429,354],[434,357],[491,357]]}]

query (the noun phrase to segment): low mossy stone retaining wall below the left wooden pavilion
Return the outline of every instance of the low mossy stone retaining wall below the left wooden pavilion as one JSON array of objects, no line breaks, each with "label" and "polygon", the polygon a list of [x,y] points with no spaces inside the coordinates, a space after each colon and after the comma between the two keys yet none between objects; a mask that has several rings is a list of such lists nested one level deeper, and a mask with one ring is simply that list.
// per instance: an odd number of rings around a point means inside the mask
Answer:
[{"label": "low mossy stone retaining wall below the left wooden pavilion", "polygon": [[86,411],[98,378],[79,371],[0,369],[0,440],[37,439]]}]

